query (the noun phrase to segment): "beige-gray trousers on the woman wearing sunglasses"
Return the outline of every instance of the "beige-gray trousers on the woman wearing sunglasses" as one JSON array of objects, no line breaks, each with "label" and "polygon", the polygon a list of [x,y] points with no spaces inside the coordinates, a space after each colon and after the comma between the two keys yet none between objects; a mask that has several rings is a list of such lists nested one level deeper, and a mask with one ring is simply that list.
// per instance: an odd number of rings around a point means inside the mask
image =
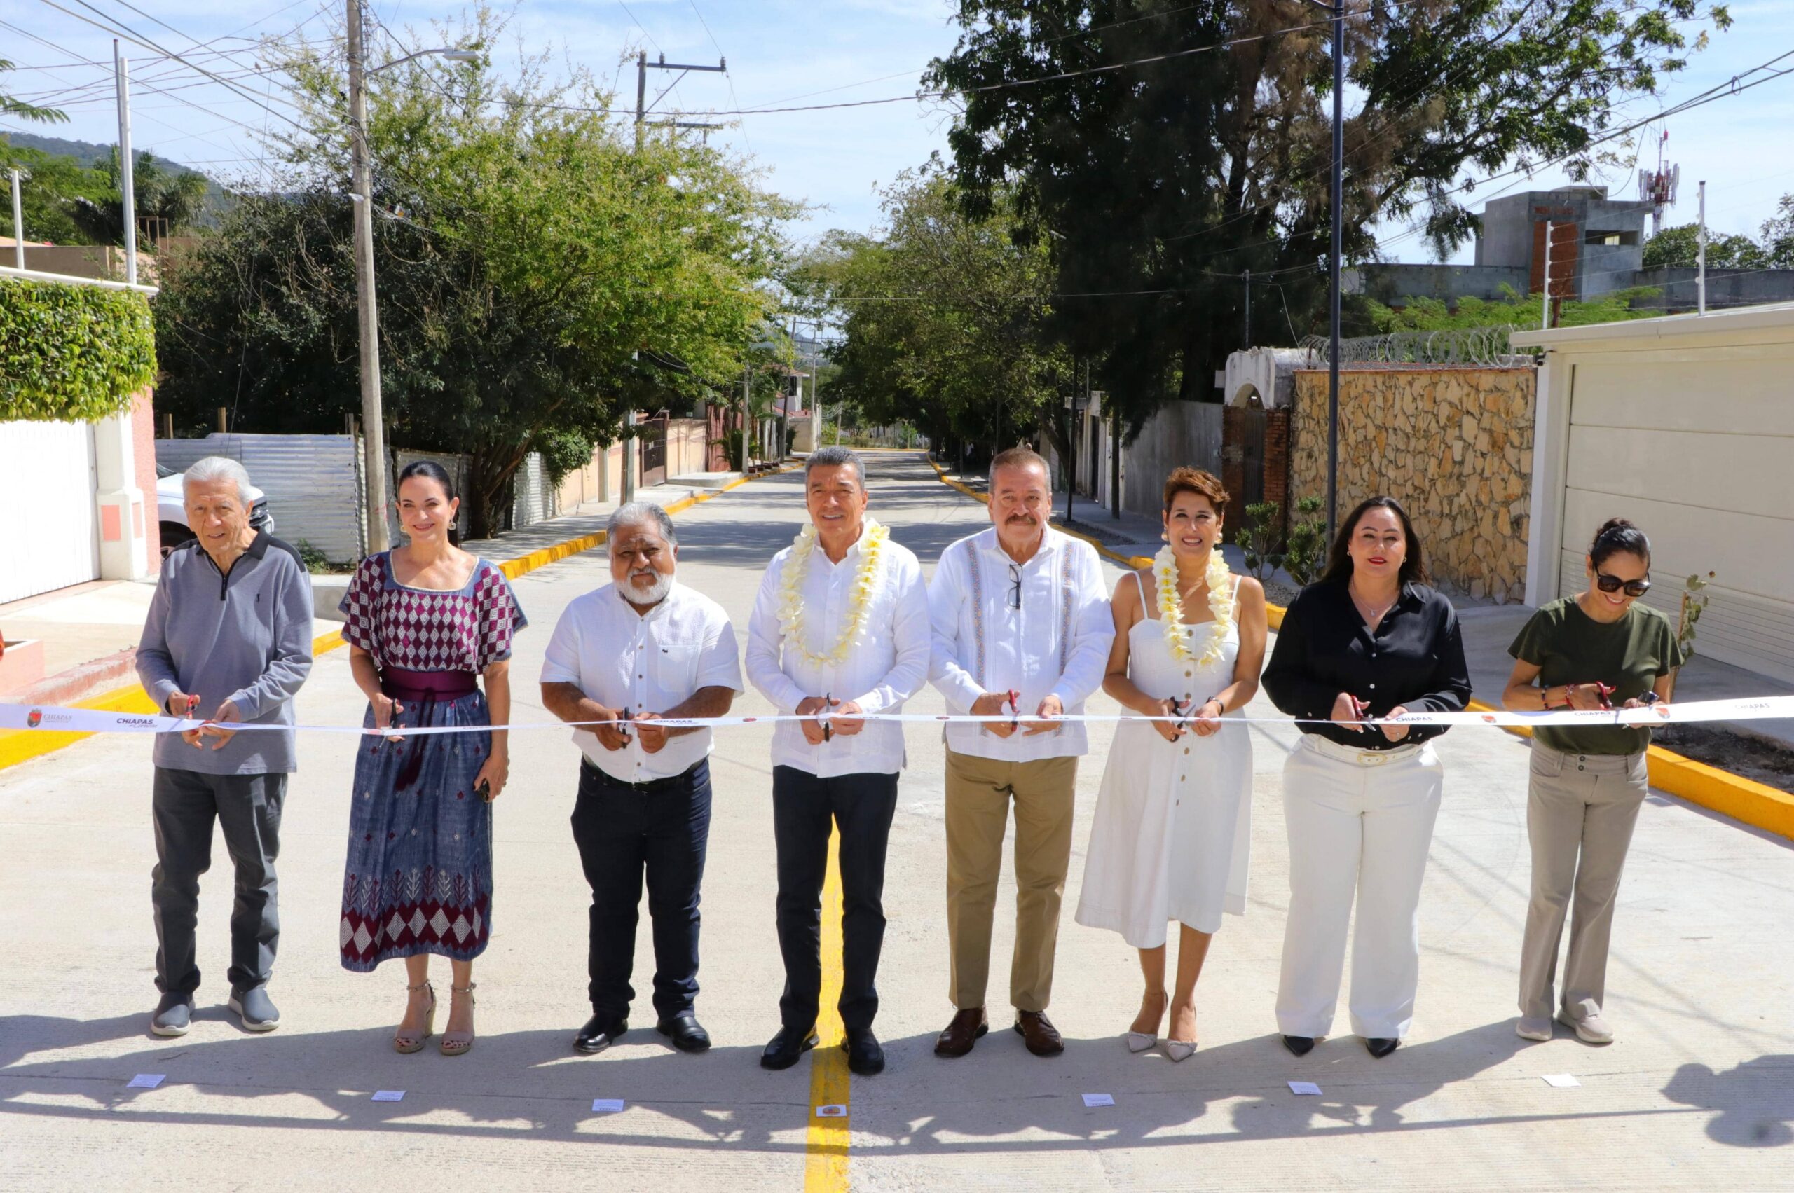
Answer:
[{"label": "beige-gray trousers on the woman wearing sunglasses", "polygon": [[1643,753],[1563,753],[1532,743],[1532,904],[1520,945],[1521,1015],[1550,1019],[1557,1010],[1552,987],[1564,913],[1570,954],[1559,1005],[1575,1017],[1582,999],[1606,1005],[1613,904],[1649,786]]}]

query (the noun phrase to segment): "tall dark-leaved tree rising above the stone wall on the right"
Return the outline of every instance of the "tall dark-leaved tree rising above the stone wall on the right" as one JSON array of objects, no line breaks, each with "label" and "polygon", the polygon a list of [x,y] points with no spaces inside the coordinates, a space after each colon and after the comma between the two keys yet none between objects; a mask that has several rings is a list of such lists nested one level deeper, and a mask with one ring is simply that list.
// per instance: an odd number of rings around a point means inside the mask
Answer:
[{"label": "tall dark-leaved tree rising above the stone wall on the right", "polygon": [[[1320,330],[1329,25],[1304,0],[960,0],[929,86],[974,215],[1014,196],[1051,233],[1053,334],[1098,361],[1132,427],[1211,398],[1238,346],[1241,271],[1276,282],[1293,332]],[[1419,221],[1435,249],[1475,228],[1471,179],[1613,156],[1620,104],[1658,90],[1724,27],[1697,0],[1351,0],[1346,249]],[[1695,27],[1695,29],[1690,29]],[[1202,47],[1227,48],[1206,52]],[[1028,84],[1028,81],[1039,81]],[[1015,86],[1017,83],[1026,86]],[[1274,307],[1274,309],[1276,309]]]}]

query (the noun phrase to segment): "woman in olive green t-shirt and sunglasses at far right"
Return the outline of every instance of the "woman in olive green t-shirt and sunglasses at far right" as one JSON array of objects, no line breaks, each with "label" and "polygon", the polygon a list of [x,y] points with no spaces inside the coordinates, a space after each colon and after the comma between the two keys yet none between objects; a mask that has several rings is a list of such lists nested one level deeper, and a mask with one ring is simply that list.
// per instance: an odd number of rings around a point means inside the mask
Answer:
[{"label": "woman in olive green t-shirt and sunglasses at far right", "polygon": [[[1638,603],[1650,588],[1650,542],[1625,518],[1595,533],[1588,588],[1552,601],[1507,648],[1514,673],[1502,703],[1516,712],[1638,709],[1670,698],[1683,664],[1668,619]],[[1527,836],[1532,841],[1532,906],[1520,951],[1520,1023],[1528,1041],[1552,1039],[1552,1012],[1589,1044],[1611,1044],[1602,1017],[1607,940],[1620,870],[1649,789],[1649,728],[1539,725],[1532,730]],[[1564,913],[1570,956],[1563,1001],[1554,1008],[1557,944]]]}]

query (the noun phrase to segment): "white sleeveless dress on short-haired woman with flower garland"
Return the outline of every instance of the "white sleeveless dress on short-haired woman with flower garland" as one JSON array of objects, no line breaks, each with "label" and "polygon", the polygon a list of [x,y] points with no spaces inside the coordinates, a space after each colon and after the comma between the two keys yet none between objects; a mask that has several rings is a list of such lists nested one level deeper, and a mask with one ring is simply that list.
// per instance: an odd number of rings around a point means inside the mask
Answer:
[{"label": "white sleeveless dress on short-haired woman with flower garland", "polygon": [[[1143,605],[1154,612],[1154,601]],[[1193,631],[1191,648],[1200,651],[1209,626],[1195,624]],[[1143,617],[1128,630],[1128,678],[1159,700],[1200,703],[1215,696],[1232,684],[1238,657],[1238,619],[1222,657],[1207,667],[1171,658],[1157,617]],[[1227,719],[1238,716],[1234,710]],[[1084,858],[1078,924],[1118,931],[1136,949],[1155,949],[1171,920],[1213,933],[1224,911],[1245,915],[1252,838],[1247,734],[1245,725],[1224,725],[1209,737],[1186,734],[1170,743],[1148,721],[1116,727]]]}]

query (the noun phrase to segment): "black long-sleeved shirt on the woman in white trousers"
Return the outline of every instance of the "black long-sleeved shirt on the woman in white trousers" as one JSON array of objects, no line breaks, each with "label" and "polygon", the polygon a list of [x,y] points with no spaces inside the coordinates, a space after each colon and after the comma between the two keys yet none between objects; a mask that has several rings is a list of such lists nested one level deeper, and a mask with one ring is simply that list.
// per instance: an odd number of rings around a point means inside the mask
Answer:
[{"label": "black long-sleeved shirt on the woman in white trousers", "polygon": [[[1426,585],[1405,583],[1371,633],[1346,583],[1308,585],[1283,615],[1263,684],[1272,703],[1310,721],[1331,718],[1340,692],[1367,701],[1365,716],[1401,705],[1410,712],[1460,712],[1469,701],[1469,666],[1457,610]],[[1415,725],[1401,741],[1331,723],[1301,730],[1346,746],[1394,750],[1437,737],[1446,727]]]}]

